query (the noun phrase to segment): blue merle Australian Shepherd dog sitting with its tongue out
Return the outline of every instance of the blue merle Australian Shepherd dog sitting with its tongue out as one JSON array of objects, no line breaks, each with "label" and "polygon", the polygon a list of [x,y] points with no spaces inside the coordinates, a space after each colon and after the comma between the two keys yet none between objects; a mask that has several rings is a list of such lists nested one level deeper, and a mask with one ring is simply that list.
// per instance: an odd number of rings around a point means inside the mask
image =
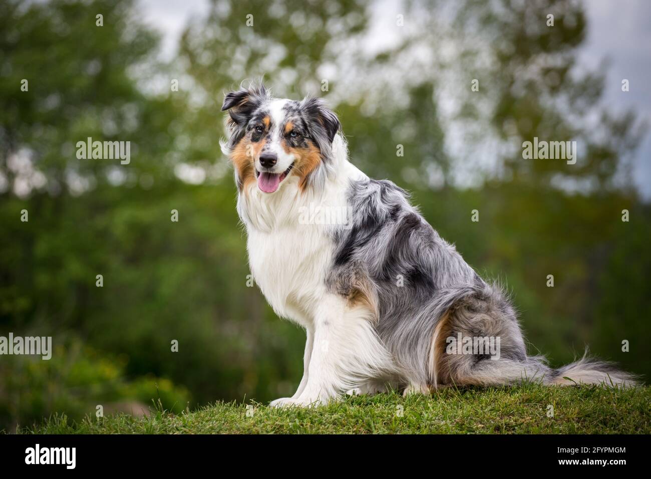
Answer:
[{"label": "blue merle Australian Shepherd dog sitting with its tongue out", "polygon": [[271,406],[523,380],[635,384],[585,355],[558,370],[528,356],[499,285],[441,239],[405,190],[353,166],[324,100],[276,99],[253,82],[221,109],[251,273],[275,313],[307,335],[296,393]]}]

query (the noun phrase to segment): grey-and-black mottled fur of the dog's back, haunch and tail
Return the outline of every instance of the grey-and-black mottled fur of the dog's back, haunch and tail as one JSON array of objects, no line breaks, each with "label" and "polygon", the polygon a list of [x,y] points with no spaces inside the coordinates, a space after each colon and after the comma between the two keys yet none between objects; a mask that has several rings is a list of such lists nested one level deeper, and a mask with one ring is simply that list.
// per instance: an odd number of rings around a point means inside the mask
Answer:
[{"label": "grey-and-black mottled fur of the dog's back, haunch and tail", "polygon": [[[404,383],[508,385],[528,379],[551,384],[564,371],[594,379],[594,370],[633,383],[634,377],[611,365],[584,360],[554,371],[542,356],[527,356],[516,313],[501,288],[484,282],[393,182],[352,182],[348,201],[352,225],[333,233],[335,259],[327,284],[348,297],[360,284],[370,289],[376,330]],[[440,364],[432,368],[439,321],[445,321],[446,336],[500,338],[501,355],[447,355],[437,349]]]}]

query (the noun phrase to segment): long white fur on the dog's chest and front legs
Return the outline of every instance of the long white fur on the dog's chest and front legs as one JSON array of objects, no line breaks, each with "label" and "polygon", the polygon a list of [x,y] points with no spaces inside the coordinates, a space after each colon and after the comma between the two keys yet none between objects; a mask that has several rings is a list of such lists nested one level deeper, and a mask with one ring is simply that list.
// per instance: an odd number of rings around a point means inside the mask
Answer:
[{"label": "long white fur on the dog's chest and front legs", "polygon": [[373,328],[372,312],[327,291],[326,272],[333,256],[330,225],[299,221],[306,208],[345,208],[350,180],[365,178],[348,162],[339,135],[333,143],[333,162],[337,175],[328,178],[320,192],[307,188],[301,194],[298,178],[290,173],[273,194],[249,184],[238,200],[253,278],[273,310],[307,332],[298,390],[291,398],[272,401],[273,406],[326,403],[354,388],[379,390],[380,386],[371,386],[372,378],[395,370]]}]

